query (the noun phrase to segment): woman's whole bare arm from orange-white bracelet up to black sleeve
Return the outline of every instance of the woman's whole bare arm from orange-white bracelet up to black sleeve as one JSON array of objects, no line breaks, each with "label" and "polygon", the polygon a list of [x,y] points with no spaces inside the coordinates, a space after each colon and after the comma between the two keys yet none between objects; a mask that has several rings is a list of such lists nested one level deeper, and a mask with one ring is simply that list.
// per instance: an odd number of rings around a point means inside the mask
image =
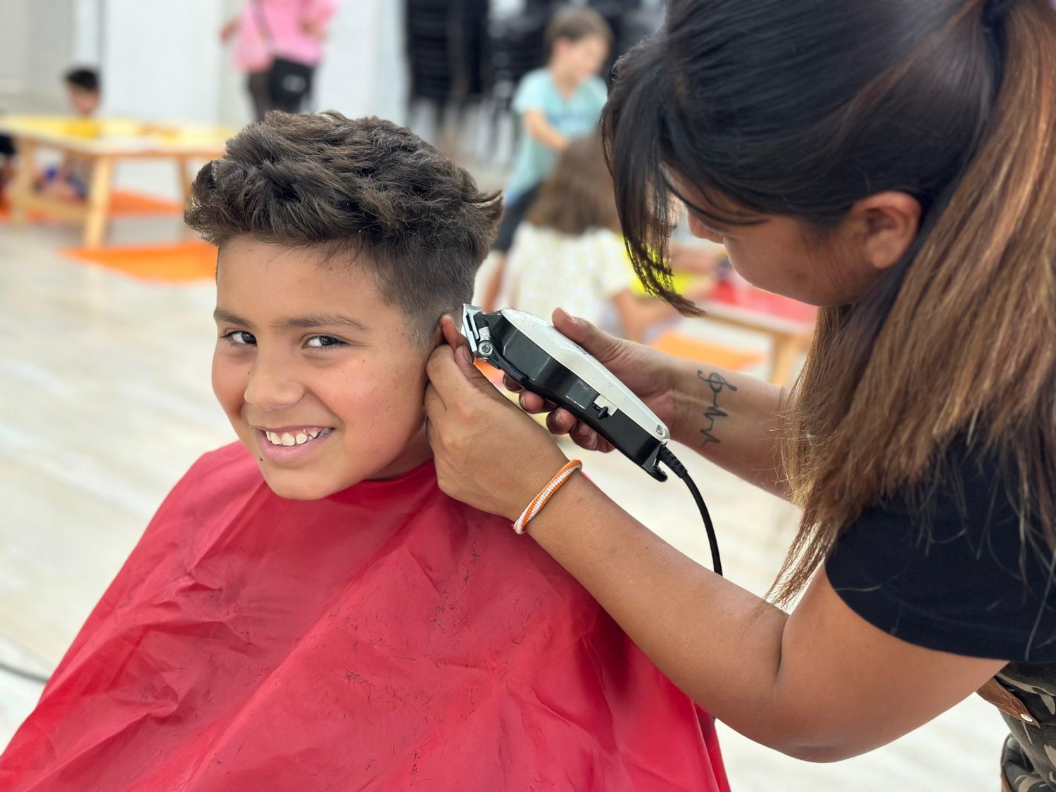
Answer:
[{"label": "woman's whole bare arm from orange-white bracelet up to black sleeve", "polygon": [[878,629],[844,603],[824,569],[785,614],[678,552],[581,475],[528,533],[694,701],[796,758],[835,761],[879,748],[1005,664]]}]

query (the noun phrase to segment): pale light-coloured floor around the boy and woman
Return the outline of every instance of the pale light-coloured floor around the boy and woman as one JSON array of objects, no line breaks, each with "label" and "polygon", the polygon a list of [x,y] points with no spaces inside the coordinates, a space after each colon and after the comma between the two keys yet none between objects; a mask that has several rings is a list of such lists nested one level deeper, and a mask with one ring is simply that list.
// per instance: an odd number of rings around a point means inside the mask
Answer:
[{"label": "pale light-coloured floor around the boy and woman", "polygon": [[[122,241],[176,239],[174,220],[118,224]],[[63,260],[72,229],[0,226],[0,662],[46,673],[162,496],[232,433],[209,390],[209,284],[162,286]],[[698,325],[696,332],[721,334]],[[788,505],[700,459],[728,574],[763,592],[795,525]],[[706,560],[689,494],[616,456],[587,460],[636,516]],[[0,672],[0,746],[39,686]],[[735,790],[998,789],[1002,725],[969,699],[870,755],[807,765],[722,731]]]}]

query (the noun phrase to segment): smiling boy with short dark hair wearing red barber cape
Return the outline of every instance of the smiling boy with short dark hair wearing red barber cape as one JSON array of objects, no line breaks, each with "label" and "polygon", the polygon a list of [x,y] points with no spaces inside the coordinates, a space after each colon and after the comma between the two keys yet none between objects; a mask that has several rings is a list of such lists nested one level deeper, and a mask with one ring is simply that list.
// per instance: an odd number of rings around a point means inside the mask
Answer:
[{"label": "smiling boy with short dark hair wearing red barber cape", "polygon": [[166,498],[0,788],[725,789],[711,719],[437,487],[425,363],[499,211],[410,132],[336,113],[274,113],[201,171],[240,442]]}]

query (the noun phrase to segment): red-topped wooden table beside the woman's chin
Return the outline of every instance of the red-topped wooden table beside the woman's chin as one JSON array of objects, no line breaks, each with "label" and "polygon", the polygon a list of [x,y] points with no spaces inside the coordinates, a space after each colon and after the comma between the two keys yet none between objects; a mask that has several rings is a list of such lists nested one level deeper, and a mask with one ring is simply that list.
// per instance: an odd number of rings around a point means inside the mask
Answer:
[{"label": "red-topped wooden table beside the woman's chin", "polygon": [[774,384],[791,382],[795,356],[805,352],[814,338],[817,308],[747,283],[719,283],[700,307],[705,319],[770,336],[773,342],[770,381]]}]

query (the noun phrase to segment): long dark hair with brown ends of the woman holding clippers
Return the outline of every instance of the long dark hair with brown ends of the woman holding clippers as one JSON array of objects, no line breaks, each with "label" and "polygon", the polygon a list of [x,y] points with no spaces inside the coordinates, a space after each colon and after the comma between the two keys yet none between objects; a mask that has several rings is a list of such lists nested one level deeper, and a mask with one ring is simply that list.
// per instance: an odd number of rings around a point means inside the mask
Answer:
[{"label": "long dark hair with brown ends of the woman holding clippers", "polygon": [[1056,546],[1049,0],[673,0],[618,70],[603,130],[627,247],[685,313],[664,263],[673,174],[721,225],[824,234],[885,190],[923,209],[881,285],[822,310],[784,447],[804,517],[781,599],[957,436],[996,454],[1024,535]]}]

